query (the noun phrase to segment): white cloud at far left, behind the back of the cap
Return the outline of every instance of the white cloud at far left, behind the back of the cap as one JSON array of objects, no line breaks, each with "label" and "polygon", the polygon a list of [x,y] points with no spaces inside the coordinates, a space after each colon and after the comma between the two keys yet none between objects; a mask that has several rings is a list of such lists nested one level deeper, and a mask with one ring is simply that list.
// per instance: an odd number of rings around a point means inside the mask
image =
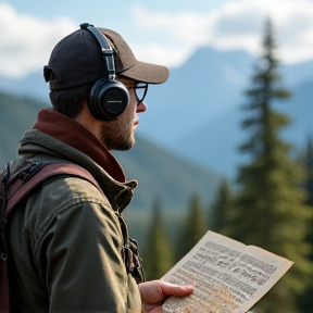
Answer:
[{"label": "white cloud at far left, behind the back of the cap", "polygon": [[60,38],[77,26],[67,17],[45,21],[18,14],[8,3],[0,3],[0,75],[22,78],[47,64]]}]

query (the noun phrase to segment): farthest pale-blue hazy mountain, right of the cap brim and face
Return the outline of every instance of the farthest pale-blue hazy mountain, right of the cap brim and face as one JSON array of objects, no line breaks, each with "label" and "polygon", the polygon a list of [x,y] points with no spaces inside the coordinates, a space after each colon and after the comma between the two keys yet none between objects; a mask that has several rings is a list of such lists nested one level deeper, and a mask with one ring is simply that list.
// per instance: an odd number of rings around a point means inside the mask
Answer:
[{"label": "farthest pale-blue hazy mountain, right of the cap brim and face", "polygon": [[166,84],[149,86],[140,132],[171,148],[181,135],[214,121],[239,100],[252,61],[242,51],[199,49],[183,66],[171,70]]}]

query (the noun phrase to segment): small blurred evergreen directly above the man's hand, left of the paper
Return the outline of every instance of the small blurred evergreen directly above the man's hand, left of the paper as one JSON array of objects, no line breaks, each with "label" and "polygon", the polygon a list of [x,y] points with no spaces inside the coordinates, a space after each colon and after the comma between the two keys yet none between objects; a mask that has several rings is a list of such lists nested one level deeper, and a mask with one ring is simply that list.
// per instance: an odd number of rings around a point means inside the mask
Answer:
[{"label": "small blurred evergreen directly above the man's hand, left of the paper", "polygon": [[143,267],[148,280],[161,278],[174,264],[161,203],[154,201],[150,227],[148,227]]}]

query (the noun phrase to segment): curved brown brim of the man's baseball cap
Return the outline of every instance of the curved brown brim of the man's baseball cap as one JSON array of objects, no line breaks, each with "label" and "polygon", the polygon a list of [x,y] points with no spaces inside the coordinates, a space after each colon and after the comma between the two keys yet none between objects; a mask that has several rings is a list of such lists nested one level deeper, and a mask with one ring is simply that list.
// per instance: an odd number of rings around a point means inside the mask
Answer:
[{"label": "curved brown brim of the man's baseball cap", "polygon": [[167,80],[170,72],[166,66],[137,61],[134,66],[124,71],[122,75],[142,83],[162,84]]}]

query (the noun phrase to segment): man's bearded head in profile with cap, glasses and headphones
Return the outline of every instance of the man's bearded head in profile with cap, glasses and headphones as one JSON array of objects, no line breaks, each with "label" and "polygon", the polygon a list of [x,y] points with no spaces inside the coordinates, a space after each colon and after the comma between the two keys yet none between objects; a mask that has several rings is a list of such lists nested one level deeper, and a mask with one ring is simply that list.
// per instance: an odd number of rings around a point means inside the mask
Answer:
[{"label": "man's bearded head in profile with cap, glasses and headphones", "polygon": [[117,33],[85,23],[55,46],[43,75],[55,111],[76,118],[87,107],[97,121],[104,121],[100,132],[91,133],[99,133],[95,135],[110,150],[127,150],[134,145],[137,113],[146,111],[138,93],[146,95],[148,84],[164,83],[168,70],[138,61]]}]

